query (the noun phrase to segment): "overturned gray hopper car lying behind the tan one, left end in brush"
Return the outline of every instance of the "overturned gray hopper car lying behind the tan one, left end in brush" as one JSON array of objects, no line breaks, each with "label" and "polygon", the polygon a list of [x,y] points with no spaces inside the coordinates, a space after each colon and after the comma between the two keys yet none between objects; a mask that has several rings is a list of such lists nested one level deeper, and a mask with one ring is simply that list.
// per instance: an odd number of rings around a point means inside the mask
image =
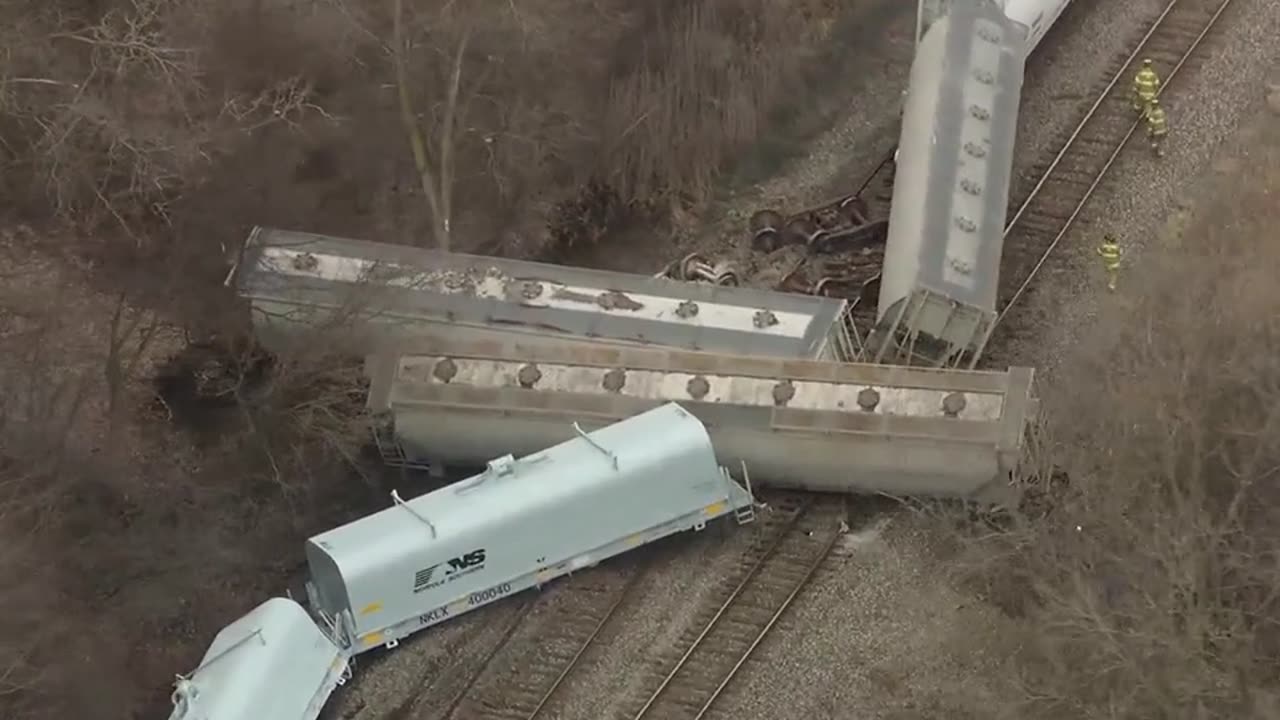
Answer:
[{"label": "overturned gray hopper car lying behind the tan one, left end in brush", "polygon": [[262,343],[319,328],[365,354],[428,329],[778,357],[852,352],[844,300],[684,283],[498,258],[255,228],[227,278],[250,300]]}]

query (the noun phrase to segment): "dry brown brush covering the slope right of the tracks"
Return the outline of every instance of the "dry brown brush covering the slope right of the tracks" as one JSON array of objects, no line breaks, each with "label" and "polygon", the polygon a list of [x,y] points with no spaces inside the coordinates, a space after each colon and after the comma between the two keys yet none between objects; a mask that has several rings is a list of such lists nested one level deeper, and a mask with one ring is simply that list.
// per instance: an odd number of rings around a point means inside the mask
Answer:
[{"label": "dry brown brush covering the slope right of the tracks", "polygon": [[969,528],[960,575],[1025,626],[1007,717],[1280,714],[1271,135],[1262,172],[1102,302],[1051,402],[1051,511]]}]

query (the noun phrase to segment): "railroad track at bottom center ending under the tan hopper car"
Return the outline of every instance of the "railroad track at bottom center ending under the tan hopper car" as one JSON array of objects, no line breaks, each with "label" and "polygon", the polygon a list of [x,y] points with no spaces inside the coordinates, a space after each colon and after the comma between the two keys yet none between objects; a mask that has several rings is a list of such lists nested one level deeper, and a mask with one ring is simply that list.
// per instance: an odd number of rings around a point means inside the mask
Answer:
[{"label": "railroad track at bottom center ending under the tan hopper car", "polygon": [[844,532],[844,502],[783,496],[786,515],[748,555],[728,597],[710,614],[684,653],[626,717],[700,720],[799,596]]}]

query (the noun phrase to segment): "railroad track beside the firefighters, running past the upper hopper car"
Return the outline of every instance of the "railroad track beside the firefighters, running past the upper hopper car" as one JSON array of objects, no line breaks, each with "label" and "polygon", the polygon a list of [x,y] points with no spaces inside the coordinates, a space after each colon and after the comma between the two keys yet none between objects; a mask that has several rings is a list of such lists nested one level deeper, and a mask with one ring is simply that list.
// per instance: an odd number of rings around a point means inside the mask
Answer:
[{"label": "railroad track beside the firefighters, running past the upper hopper car", "polygon": [[[1170,0],[1137,46],[1117,61],[1098,94],[1039,181],[1005,225],[998,325],[1071,229],[1129,138],[1139,129],[1132,82],[1143,58],[1156,63],[1161,92],[1201,47],[1231,0]],[[1176,122],[1176,114],[1174,115]]]}]

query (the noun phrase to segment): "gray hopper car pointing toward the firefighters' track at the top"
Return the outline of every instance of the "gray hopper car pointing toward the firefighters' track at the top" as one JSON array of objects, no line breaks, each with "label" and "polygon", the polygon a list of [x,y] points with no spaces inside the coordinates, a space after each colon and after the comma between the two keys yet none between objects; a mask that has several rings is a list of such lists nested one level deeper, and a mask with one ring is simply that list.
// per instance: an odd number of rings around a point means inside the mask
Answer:
[{"label": "gray hopper car pointing toward the firefighters' track at the top", "polygon": [[[877,322],[980,352],[996,310],[1025,28],[955,0],[911,64]],[[908,309],[913,296],[916,306]],[[900,337],[896,340],[901,340]],[[927,348],[937,359],[937,348]],[[882,357],[884,359],[884,357]],[[895,361],[905,361],[897,357]],[[940,364],[942,364],[940,363]]]}]

